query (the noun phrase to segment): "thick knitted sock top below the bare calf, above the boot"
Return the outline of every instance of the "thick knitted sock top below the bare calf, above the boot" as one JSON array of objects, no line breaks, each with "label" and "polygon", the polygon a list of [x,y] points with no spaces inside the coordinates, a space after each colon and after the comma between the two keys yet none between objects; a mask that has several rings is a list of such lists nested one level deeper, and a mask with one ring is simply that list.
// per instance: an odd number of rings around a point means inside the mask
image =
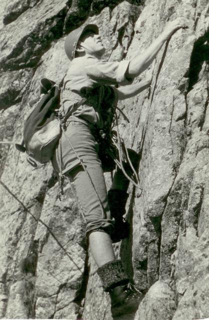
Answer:
[{"label": "thick knitted sock top below the bare calf, above the boot", "polygon": [[129,282],[128,276],[123,270],[121,260],[107,262],[100,266],[97,273],[102,281],[104,291],[110,291],[118,285],[124,285]]}]

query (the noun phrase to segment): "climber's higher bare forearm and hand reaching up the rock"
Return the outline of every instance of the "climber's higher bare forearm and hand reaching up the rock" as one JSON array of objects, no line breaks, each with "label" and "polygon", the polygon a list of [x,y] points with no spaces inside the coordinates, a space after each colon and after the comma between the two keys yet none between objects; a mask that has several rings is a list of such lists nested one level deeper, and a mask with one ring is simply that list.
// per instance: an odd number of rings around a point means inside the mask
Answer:
[{"label": "climber's higher bare forearm and hand reaching up the rock", "polygon": [[176,30],[185,27],[185,23],[183,23],[180,18],[168,22],[164,31],[152,42],[152,44],[130,61],[126,71],[126,77],[135,77],[143,72],[153,61],[164,42],[168,40]]}]

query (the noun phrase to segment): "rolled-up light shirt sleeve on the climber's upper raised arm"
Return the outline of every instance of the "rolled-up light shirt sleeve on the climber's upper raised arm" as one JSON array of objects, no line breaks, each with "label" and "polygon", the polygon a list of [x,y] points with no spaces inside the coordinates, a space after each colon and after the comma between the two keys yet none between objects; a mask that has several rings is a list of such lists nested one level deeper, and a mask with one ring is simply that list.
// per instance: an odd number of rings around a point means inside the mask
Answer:
[{"label": "rolled-up light shirt sleeve on the climber's upper raised arm", "polygon": [[130,79],[125,76],[129,60],[105,61],[93,57],[86,60],[86,74],[100,84],[128,84]]}]

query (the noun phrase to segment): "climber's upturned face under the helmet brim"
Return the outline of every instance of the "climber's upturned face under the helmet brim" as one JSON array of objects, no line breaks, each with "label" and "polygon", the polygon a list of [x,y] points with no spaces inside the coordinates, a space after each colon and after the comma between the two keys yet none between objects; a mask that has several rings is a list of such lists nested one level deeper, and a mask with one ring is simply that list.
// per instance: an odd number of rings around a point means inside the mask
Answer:
[{"label": "climber's upturned face under the helmet brim", "polygon": [[77,51],[84,51],[88,55],[101,57],[105,52],[105,48],[99,34],[87,31],[81,36]]}]

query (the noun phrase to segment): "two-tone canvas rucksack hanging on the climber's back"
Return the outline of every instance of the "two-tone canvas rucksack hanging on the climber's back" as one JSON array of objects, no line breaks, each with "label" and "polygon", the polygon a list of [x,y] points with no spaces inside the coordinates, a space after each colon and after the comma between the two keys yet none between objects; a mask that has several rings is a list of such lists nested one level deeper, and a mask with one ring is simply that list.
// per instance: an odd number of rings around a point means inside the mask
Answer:
[{"label": "two-tone canvas rucksack hanging on the climber's back", "polygon": [[[22,143],[32,165],[36,165],[34,160],[40,163],[51,160],[61,135],[60,122],[54,111],[60,106],[63,80],[55,83],[47,78],[42,78],[40,84],[41,96],[25,122]],[[21,151],[24,149],[22,148]]]}]

